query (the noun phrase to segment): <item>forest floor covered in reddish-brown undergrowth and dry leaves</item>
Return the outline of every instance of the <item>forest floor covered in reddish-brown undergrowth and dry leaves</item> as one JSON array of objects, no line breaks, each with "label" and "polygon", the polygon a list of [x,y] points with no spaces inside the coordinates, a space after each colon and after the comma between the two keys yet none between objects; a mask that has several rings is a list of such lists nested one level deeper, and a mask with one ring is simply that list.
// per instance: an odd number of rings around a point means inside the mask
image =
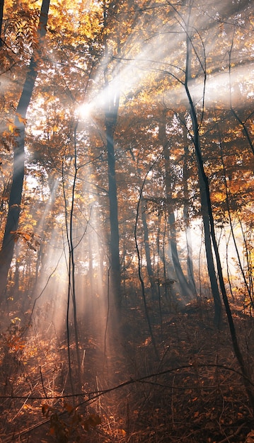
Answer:
[{"label": "forest floor covered in reddish-brown undergrowth and dry leaves", "polygon": [[[96,318],[84,319],[81,374],[71,341],[71,377],[66,334],[24,335],[14,322],[1,334],[0,442],[253,443],[226,318],[214,328],[207,302],[162,309],[150,306],[154,340],[138,306],[109,328],[107,343],[96,338]],[[253,375],[254,320],[237,306],[233,319]]]}]

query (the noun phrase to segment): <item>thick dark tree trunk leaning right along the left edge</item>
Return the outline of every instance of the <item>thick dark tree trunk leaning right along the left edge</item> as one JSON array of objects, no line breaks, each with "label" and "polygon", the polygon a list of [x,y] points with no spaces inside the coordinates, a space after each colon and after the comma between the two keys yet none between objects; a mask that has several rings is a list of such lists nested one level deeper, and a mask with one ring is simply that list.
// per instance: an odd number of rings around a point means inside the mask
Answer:
[{"label": "thick dark tree trunk leaning right along the left edge", "polygon": [[[47,16],[50,8],[50,0],[43,0],[40,11],[40,21],[38,25],[38,38],[42,44],[42,38],[46,34]],[[32,97],[35,80],[37,77],[38,63],[40,62],[40,50],[34,50],[30,59],[28,72],[21,98],[18,102],[15,117],[15,146],[13,156],[13,180],[8,202],[8,214],[4,239],[0,251],[0,297],[3,297],[8,280],[8,270],[13,258],[13,248],[15,243],[15,232],[18,229],[18,220],[21,212],[21,197],[23,190],[23,179],[25,171],[25,117]]]}]

